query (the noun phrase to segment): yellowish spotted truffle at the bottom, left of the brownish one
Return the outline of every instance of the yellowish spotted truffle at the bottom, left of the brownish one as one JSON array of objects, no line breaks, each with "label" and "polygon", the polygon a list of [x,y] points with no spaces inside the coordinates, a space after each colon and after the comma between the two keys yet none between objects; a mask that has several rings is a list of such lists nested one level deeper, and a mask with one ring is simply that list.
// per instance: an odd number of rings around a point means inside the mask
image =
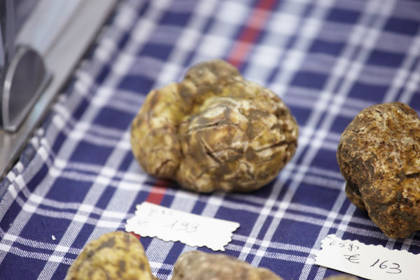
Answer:
[{"label": "yellowish spotted truffle at the bottom, left of the brownish one", "polygon": [[66,280],[156,280],[140,241],[127,232],[109,232],[78,255]]}]

